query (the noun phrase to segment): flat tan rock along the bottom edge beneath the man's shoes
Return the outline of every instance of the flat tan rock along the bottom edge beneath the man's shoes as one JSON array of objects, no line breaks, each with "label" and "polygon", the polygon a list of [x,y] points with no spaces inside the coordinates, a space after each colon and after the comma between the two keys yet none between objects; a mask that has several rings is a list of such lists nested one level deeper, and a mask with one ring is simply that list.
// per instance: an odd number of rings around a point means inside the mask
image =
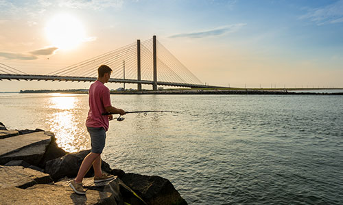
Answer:
[{"label": "flat tan rock along the bottom edge beneath the man's shoes", "polygon": [[0,202],[1,204],[117,204],[112,193],[88,190],[86,195],[78,195],[70,187],[54,184],[36,184],[27,189],[16,187],[0,189]]}]

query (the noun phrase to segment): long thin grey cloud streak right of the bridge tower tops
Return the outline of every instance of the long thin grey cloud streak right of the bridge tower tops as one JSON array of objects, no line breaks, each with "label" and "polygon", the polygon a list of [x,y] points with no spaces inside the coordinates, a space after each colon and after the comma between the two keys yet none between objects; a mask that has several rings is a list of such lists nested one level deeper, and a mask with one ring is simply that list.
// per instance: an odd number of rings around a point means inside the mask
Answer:
[{"label": "long thin grey cloud streak right of the bridge tower tops", "polygon": [[179,33],[173,36],[169,36],[169,38],[206,38],[210,36],[221,36],[226,33],[233,33],[244,27],[246,23],[238,23],[234,25],[226,25],[224,27],[218,27],[215,29],[211,29],[208,31],[198,31],[193,33]]}]

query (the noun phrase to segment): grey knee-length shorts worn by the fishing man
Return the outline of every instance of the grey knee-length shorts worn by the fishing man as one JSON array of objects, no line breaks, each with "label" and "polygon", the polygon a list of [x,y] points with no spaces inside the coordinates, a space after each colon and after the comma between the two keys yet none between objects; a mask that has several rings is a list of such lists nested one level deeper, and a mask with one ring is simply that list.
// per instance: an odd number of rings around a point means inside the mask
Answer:
[{"label": "grey knee-length shorts worn by the fishing man", "polygon": [[106,131],[103,127],[87,126],[87,131],[91,135],[91,152],[101,154],[105,147]]}]

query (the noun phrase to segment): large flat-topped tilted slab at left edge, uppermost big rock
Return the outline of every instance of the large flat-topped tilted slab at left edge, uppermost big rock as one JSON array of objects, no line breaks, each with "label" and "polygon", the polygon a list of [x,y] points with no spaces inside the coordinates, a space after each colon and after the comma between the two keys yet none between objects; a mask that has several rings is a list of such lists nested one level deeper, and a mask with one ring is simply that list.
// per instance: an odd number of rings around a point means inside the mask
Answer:
[{"label": "large flat-topped tilted slab at left edge, uppermost big rock", "polygon": [[49,132],[36,132],[0,139],[0,165],[12,160],[23,160],[39,165],[51,141]]}]

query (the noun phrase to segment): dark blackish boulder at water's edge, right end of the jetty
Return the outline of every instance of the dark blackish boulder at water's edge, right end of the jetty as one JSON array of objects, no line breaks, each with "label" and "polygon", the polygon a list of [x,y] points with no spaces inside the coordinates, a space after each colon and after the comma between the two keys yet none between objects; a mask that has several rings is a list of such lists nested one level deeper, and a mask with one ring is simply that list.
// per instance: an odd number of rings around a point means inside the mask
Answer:
[{"label": "dark blackish boulder at water's edge, right end of the jetty", "polygon": [[187,204],[173,184],[160,176],[124,174],[121,180],[140,195],[147,204]]}]

